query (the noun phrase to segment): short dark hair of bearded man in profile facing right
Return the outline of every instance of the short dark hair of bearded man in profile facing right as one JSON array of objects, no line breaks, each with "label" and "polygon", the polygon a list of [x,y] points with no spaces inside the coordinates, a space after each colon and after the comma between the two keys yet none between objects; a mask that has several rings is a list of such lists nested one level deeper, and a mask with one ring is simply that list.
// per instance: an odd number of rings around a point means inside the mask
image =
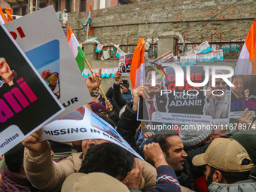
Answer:
[{"label": "short dark hair of bearded man in profile facing right", "polygon": [[171,136],[178,136],[178,133],[175,130],[163,130],[157,133],[154,137],[154,142],[159,143],[160,148],[166,154],[166,157],[169,157],[169,148],[171,147],[166,139]]}]

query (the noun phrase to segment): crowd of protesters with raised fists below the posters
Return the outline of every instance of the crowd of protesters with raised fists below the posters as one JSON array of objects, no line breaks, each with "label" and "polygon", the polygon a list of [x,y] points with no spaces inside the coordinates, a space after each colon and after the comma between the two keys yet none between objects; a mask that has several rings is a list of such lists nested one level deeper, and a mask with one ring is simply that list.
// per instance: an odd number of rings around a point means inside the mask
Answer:
[{"label": "crowd of protesters with raised fists below the posters", "polygon": [[[137,120],[139,99],[151,98],[149,87],[141,85],[132,94],[118,71],[105,101],[100,74],[101,69],[84,79],[93,100],[85,106],[144,160],[105,139],[41,141],[37,130],[1,157],[0,191],[256,191],[255,130],[154,133],[145,129],[150,122]],[[77,111],[83,114],[82,108]],[[246,108],[237,122],[253,124],[251,117]]]}]

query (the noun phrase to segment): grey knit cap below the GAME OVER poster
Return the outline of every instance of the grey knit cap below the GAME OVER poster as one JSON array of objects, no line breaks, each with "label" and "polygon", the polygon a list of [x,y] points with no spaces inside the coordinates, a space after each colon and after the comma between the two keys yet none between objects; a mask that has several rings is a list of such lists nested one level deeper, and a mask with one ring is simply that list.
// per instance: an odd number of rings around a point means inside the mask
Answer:
[{"label": "grey knit cap below the GAME OVER poster", "polygon": [[203,142],[203,140],[206,139],[211,133],[211,129],[198,129],[196,126],[194,129],[180,129],[179,137],[181,138],[184,146],[191,147]]}]

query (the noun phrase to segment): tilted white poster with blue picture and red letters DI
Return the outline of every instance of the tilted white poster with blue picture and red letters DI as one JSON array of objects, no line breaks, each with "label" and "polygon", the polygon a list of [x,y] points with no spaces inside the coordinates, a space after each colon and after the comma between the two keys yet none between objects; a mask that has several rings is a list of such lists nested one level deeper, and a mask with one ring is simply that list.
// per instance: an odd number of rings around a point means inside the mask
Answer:
[{"label": "tilted white poster with blue picture and red letters DI", "polygon": [[5,27],[65,107],[58,117],[91,102],[53,6],[5,23]]}]

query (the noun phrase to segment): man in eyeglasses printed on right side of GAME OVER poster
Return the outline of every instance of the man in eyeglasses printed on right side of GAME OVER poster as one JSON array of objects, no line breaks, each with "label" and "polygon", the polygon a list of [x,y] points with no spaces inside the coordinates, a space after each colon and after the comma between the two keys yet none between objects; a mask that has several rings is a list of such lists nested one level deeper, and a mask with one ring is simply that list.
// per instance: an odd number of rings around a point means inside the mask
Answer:
[{"label": "man in eyeglasses printed on right side of GAME OVER poster", "polygon": [[[216,72],[224,74],[224,72]],[[212,86],[212,76],[206,84],[206,104],[204,114],[211,115],[213,124],[225,125],[229,123],[228,115],[230,109],[230,90],[227,90],[227,84],[223,79],[216,79],[215,87]]]}]

